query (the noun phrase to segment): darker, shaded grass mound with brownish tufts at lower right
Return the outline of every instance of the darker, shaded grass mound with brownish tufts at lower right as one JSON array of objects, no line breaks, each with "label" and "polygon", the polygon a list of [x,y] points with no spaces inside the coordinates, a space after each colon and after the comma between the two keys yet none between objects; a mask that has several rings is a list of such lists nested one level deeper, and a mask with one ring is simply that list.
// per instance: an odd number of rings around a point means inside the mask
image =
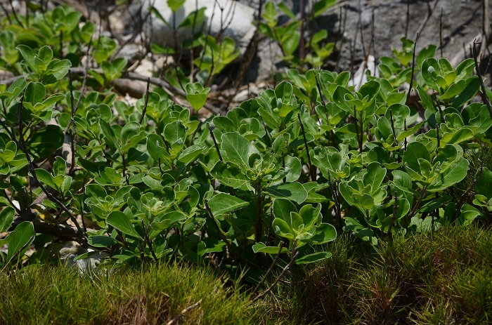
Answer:
[{"label": "darker, shaded grass mound with brownish tufts at lower right", "polygon": [[[332,258],[292,272],[257,305],[260,324],[490,324],[492,230],[444,227],[374,250],[344,234]],[[273,317],[266,317],[267,311]]]}]

